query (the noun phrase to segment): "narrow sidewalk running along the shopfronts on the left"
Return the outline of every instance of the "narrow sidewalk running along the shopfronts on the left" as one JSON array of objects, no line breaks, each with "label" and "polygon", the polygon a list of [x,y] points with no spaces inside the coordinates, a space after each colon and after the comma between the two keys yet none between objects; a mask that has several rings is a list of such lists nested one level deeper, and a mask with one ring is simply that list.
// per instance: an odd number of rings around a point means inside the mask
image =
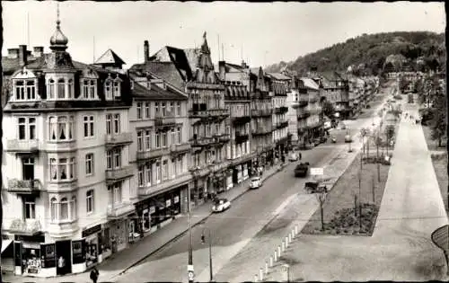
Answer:
[{"label": "narrow sidewalk running along the shopfronts on the left", "polygon": [[[266,167],[267,169],[262,175],[262,179],[269,179],[271,176],[277,173],[277,165]],[[220,198],[225,198],[233,201],[233,199],[240,198],[249,189],[248,178],[242,183],[235,185],[232,189],[226,190],[218,195]],[[192,227],[197,226],[207,217],[212,214],[211,202],[207,201],[196,208],[193,208],[191,220]],[[188,217],[187,215],[182,215],[175,220],[173,220],[167,226],[156,230],[154,233],[145,236],[144,239],[132,243],[128,249],[117,252],[111,255],[107,260],[101,262],[97,265],[97,269],[100,270],[100,281],[114,281],[121,273],[132,268],[141,261],[163,249],[163,247],[173,240],[181,237],[188,231]],[[75,282],[88,282],[89,272],[71,274],[67,276],[61,276],[56,278],[31,278],[15,276],[12,274],[5,274],[3,276],[4,282],[61,282],[61,281],[75,281]]]}]

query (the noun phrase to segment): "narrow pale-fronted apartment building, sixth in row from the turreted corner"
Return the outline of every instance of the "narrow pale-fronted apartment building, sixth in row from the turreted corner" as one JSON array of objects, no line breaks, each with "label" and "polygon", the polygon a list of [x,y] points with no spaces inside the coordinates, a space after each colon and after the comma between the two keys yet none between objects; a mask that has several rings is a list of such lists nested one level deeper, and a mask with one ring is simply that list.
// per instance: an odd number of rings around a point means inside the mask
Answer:
[{"label": "narrow pale-fronted apartment building, sixth in row from the turreted corner", "polygon": [[273,93],[273,143],[277,148],[279,158],[286,150],[288,143],[288,120],[286,106],[287,92],[290,89],[291,78],[280,73],[268,73],[271,84],[270,91]]}]

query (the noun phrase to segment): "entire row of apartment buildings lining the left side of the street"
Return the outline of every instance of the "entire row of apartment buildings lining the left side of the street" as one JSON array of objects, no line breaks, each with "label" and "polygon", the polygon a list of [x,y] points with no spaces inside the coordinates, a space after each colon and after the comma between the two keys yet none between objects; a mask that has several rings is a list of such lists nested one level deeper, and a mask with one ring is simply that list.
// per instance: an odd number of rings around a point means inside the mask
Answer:
[{"label": "entire row of apartment buildings lining the left side of the street", "polygon": [[320,137],[323,99],[351,105],[348,80],[214,65],[206,33],[152,56],[145,41],[128,70],[111,49],[77,62],[67,43],[57,21],[50,52],[2,59],[2,268],[16,274],[83,272]]}]

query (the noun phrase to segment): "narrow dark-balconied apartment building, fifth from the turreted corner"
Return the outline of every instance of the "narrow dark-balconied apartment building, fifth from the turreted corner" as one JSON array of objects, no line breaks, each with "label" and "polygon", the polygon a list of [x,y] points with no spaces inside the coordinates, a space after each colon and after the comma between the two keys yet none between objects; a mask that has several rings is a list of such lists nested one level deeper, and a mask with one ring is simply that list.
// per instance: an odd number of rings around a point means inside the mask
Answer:
[{"label": "narrow dark-balconied apartment building, fifth from the turreted corner", "polygon": [[251,151],[256,152],[255,166],[271,162],[273,145],[273,93],[269,93],[269,77],[261,67],[250,69]]}]

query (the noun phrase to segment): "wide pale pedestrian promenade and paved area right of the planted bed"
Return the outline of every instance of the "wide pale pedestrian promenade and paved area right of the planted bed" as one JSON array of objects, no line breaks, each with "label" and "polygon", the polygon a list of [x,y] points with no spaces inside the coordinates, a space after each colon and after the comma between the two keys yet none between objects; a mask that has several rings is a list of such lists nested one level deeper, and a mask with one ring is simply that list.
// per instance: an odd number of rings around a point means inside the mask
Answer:
[{"label": "wide pale pedestrian promenade and paved area right of the planted bed", "polygon": [[292,281],[445,280],[430,234],[447,223],[422,128],[402,119],[373,236],[299,234],[264,280],[285,279],[285,263]]}]

